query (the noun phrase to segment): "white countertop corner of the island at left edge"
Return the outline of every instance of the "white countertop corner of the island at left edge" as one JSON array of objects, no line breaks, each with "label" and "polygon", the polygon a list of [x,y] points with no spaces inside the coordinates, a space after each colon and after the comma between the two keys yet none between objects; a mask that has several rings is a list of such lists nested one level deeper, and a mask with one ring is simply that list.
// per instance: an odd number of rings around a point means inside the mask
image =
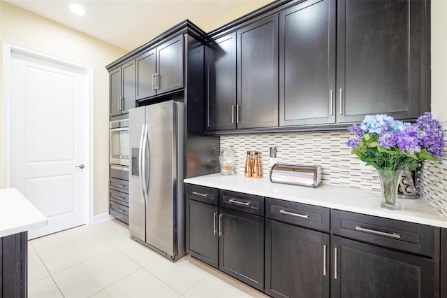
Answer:
[{"label": "white countertop corner of the island at left edge", "polygon": [[47,218],[18,190],[0,190],[0,237],[45,225]]}]

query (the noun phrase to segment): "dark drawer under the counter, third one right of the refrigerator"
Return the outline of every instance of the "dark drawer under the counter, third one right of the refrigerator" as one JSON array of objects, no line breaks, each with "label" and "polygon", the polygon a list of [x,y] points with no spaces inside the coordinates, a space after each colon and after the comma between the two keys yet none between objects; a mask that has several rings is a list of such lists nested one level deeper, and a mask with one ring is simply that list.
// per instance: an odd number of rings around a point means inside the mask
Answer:
[{"label": "dark drawer under the counter, third one right of the refrigerator", "polygon": [[265,199],[265,217],[329,232],[330,209],[280,199]]}]

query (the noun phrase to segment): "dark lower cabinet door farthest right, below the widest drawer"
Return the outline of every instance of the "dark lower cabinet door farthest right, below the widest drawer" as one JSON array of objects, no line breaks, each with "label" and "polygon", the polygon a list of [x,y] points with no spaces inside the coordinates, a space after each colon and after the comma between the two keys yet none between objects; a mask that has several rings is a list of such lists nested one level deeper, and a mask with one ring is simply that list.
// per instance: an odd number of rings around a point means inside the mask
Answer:
[{"label": "dark lower cabinet door farthest right, below the widest drawer", "polygon": [[433,260],[337,236],[331,242],[331,297],[435,297]]}]

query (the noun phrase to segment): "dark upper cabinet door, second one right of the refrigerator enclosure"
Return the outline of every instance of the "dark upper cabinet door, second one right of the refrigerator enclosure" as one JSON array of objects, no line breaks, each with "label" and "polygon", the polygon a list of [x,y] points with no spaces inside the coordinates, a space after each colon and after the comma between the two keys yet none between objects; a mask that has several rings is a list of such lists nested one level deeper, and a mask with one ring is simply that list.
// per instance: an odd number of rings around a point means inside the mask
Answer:
[{"label": "dark upper cabinet door, second one right of the refrigerator enclosure", "polygon": [[278,126],[278,17],[237,31],[237,128]]}]

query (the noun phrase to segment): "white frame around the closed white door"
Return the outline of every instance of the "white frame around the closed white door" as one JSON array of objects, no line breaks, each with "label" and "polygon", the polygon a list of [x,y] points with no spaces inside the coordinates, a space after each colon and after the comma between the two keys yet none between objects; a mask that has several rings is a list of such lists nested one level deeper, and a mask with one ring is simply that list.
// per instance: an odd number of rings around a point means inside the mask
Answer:
[{"label": "white frame around the closed white door", "polygon": [[51,55],[44,54],[42,52],[37,52],[35,50],[29,50],[27,48],[22,48],[17,45],[13,45],[7,43],[6,41],[2,41],[1,43],[1,53],[2,53],[2,93],[1,93],[1,118],[2,118],[2,140],[1,140],[1,170],[2,170],[2,185],[3,188],[10,187],[10,60],[11,53],[16,52],[20,54],[24,54],[31,57],[36,57],[38,59],[47,60],[50,62],[55,62],[57,64],[65,64],[66,66],[70,66],[75,69],[81,69],[82,71],[87,72],[87,76],[89,77],[89,118],[88,118],[88,126],[89,126],[89,197],[85,198],[88,200],[85,204],[87,206],[87,218],[85,218],[85,223],[87,225],[93,225],[94,217],[93,217],[93,67],[84,66],[82,64],[70,62],[66,59],[61,59],[58,57],[53,57]]}]

